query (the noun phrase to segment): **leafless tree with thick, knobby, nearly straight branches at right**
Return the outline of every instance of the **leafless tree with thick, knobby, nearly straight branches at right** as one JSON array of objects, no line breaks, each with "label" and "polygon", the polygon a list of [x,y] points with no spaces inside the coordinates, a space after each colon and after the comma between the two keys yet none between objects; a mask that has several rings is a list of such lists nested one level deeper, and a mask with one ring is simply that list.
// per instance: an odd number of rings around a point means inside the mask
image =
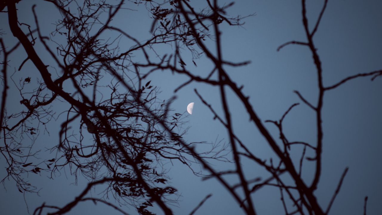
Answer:
[{"label": "leafless tree with thick, knobby, nearly straight branches at right", "polygon": [[[285,111],[283,116],[279,120],[267,120],[265,122],[270,122],[274,124],[278,131],[279,131],[279,139],[280,141],[277,142],[276,138],[270,134],[270,132],[265,128],[264,122],[262,122],[257,115],[256,111],[253,109],[252,104],[249,102],[249,97],[246,96],[243,91],[242,87],[239,87],[227,74],[225,68],[227,66],[242,66],[248,64],[248,62],[229,62],[227,60],[223,59],[223,52],[222,52],[222,43],[220,40],[220,28],[219,24],[222,22],[227,22],[228,24],[234,24],[226,18],[225,15],[225,9],[226,7],[220,7],[217,4],[217,1],[209,1],[207,0],[207,3],[209,5],[210,11],[208,13],[200,13],[196,14],[193,11],[193,8],[185,1],[178,3],[178,8],[187,21],[187,24],[189,26],[189,29],[191,29],[192,35],[196,36],[195,41],[198,44],[199,48],[204,52],[204,54],[209,58],[209,60],[214,65],[214,70],[212,70],[211,73],[208,74],[206,77],[197,77],[194,76],[191,72],[187,71],[185,68],[177,69],[175,66],[173,68],[166,67],[169,69],[172,69],[174,72],[180,73],[180,74],[186,74],[190,80],[185,83],[189,84],[193,81],[201,81],[204,83],[207,83],[209,85],[216,85],[220,89],[220,97],[221,97],[221,104],[222,108],[224,110],[224,116],[219,116],[212,106],[207,103],[205,99],[202,98],[201,94],[198,93],[198,91],[195,89],[195,93],[199,96],[201,101],[210,108],[212,114],[214,114],[214,117],[216,119],[219,119],[219,121],[227,128],[227,134],[229,136],[230,140],[230,148],[232,150],[232,156],[233,160],[235,161],[236,168],[231,171],[226,172],[217,172],[212,170],[207,164],[205,165],[206,168],[210,171],[211,177],[218,178],[222,184],[230,191],[230,193],[233,195],[233,197],[236,199],[237,203],[243,208],[244,212],[246,214],[256,214],[255,208],[254,208],[254,201],[252,199],[253,194],[260,189],[263,186],[276,186],[280,189],[280,195],[281,195],[281,202],[283,205],[283,208],[285,210],[285,214],[328,214],[330,211],[330,208],[333,204],[333,201],[335,200],[335,197],[337,196],[338,192],[340,191],[340,187],[342,185],[343,179],[346,176],[346,173],[348,171],[348,168],[345,168],[343,171],[343,174],[341,178],[339,179],[337,189],[335,190],[332,199],[330,200],[330,203],[327,207],[324,207],[324,205],[320,205],[317,201],[317,198],[314,194],[314,191],[317,189],[317,184],[320,180],[321,176],[321,164],[322,164],[322,145],[323,145],[323,132],[322,132],[322,107],[323,107],[323,98],[324,93],[330,90],[334,90],[337,87],[341,86],[343,83],[353,80],[354,78],[359,77],[371,77],[371,80],[374,80],[376,77],[382,75],[382,70],[367,72],[367,73],[359,73],[357,75],[349,76],[343,78],[343,80],[339,81],[338,83],[335,83],[331,86],[325,86],[323,84],[323,74],[322,74],[322,65],[320,61],[319,54],[317,53],[317,48],[314,44],[314,35],[316,34],[319,24],[321,21],[322,16],[324,15],[324,11],[327,7],[328,0],[323,1],[322,9],[319,13],[319,17],[317,20],[308,21],[308,18],[306,16],[306,1],[301,1],[302,6],[302,20],[303,20],[303,28],[306,36],[306,41],[290,41],[286,42],[285,44],[282,44],[280,47],[278,47],[277,50],[282,49],[285,46],[288,46],[290,44],[296,44],[307,47],[312,55],[313,63],[316,68],[316,74],[317,74],[317,85],[318,85],[318,96],[317,101],[315,103],[311,103],[307,99],[302,96],[302,94],[299,91],[295,91],[297,96],[301,99],[301,102],[304,105],[307,105],[309,108],[314,111],[316,115],[316,127],[317,127],[317,138],[315,143],[307,143],[307,142],[290,142],[286,135],[283,132],[283,119],[285,119],[288,112],[291,111],[295,106],[299,105],[299,103],[292,104],[289,109]],[[202,19],[203,18],[203,19]],[[196,20],[196,21],[195,21]],[[215,38],[215,45],[214,49],[212,49],[210,46],[208,46],[201,38],[197,37],[198,35],[198,26],[206,26],[206,23],[204,21],[208,21],[209,23],[212,23],[213,36]],[[309,28],[309,24],[313,25],[313,28]],[[205,27],[207,28],[207,27]],[[162,63],[159,64],[147,64],[147,65],[141,65],[141,66],[151,66],[151,67],[157,67],[162,68]],[[213,74],[215,74],[216,78],[213,77]],[[184,86],[184,85],[182,85]],[[250,151],[248,149],[248,144],[250,143],[243,143],[240,141],[240,139],[234,134],[233,132],[233,126],[232,126],[232,119],[230,116],[230,110],[228,108],[228,100],[227,100],[227,90],[230,90],[235,94],[235,96],[241,101],[242,105],[245,107],[246,111],[248,112],[248,116],[250,121],[253,122],[254,126],[260,131],[262,136],[265,138],[266,142],[268,143],[268,146],[274,151],[276,157],[270,158],[270,160],[264,161],[259,156],[256,155],[256,153]],[[293,162],[293,159],[291,157],[290,151],[293,150],[296,146],[302,146],[303,152],[301,154],[301,158],[299,159],[298,163]],[[306,152],[312,151],[314,153],[313,157],[307,157]],[[270,177],[261,180],[259,178],[255,179],[246,179],[245,174],[243,172],[243,168],[240,165],[241,159],[249,158],[254,162],[254,164],[261,166],[264,168],[269,174]],[[304,164],[304,160],[313,161],[315,163],[315,170],[314,170],[314,177],[313,181],[305,181],[303,177],[301,176],[302,166]],[[281,178],[282,174],[289,174],[289,176],[293,179],[293,183],[288,183],[285,179]],[[237,185],[229,185],[228,181],[225,181],[222,176],[225,174],[236,174],[237,177],[240,179],[240,182]],[[237,189],[237,191],[236,191]],[[241,190],[241,191],[240,191]],[[240,197],[244,195],[244,197]],[[287,195],[284,196],[284,195]],[[291,201],[287,201],[286,198],[289,198]],[[365,199],[365,205],[366,205]],[[291,205],[287,205],[287,203],[290,202]],[[365,206],[366,208],[366,206]]]}]

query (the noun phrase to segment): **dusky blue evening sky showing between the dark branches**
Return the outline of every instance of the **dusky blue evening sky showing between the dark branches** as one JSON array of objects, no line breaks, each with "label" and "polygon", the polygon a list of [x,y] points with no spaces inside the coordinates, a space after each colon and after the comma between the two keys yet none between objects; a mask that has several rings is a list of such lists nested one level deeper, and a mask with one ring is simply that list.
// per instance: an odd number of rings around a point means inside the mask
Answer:
[{"label": "dusky blue evening sky showing between the dark branches", "polygon": [[[205,7],[203,1],[191,1],[196,10]],[[223,1],[219,1],[221,4]],[[228,1],[227,1],[228,2]],[[307,11],[310,26],[313,26],[323,0],[308,0]],[[57,10],[51,4],[37,0],[23,0],[17,8],[20,22],[34,24],[31,6],[36,3],[36,11],[40,25],[44,26],[43,33],[49,34],[54,30],[51,24],[60,18]],[[147,11],[136,8],[138,11],[126,10],[114,21],[115,26],[124,26],[133,29],[131,34],[135,37],[149,38],[151,19]],[[380,0],[329,0],[319,29],[314,36],[314,42],[323,67],[324,85],[329,86],[343,78],[357,73],[372,72],[382,69],[382,1]],[[317,82],[316,70],[311,53],[307,47],[286,46],[280,52],[277,47],[291,40],[305,41],[305,34],[301,18],[301,1],[299,0],[241,0],[227,10],[231,16],[249,15],[242,27],[221,24],[223,58],[232,62],[250,60],[251,64],[245,67],[227,67],[230,77],[239,86],[244,85],[244,94],[250,96],[250,102],[261,120],[278,120],[283,112],[293,103],[300,102],[294,90],[300,91],[306,99],[316,103]],[[3,39],[8,47],[15,44],[10,30],[6,13],[0,13],[0,29],[6,34]],[[139,21],[138,21],[139,20]],[[113,37],[115,35],[110,35]],[[120,49],[127,49],[131,44],[120,43]],[[214,50],[213,43],[208,44]],[[35,49],[44,62],[51,62],[46,51],[36,44]],[[159,50],[160,53],[171,51],[170,47]],[[183,60],[187,69],[196,75],[206,76],[212,69],[212,64],[203,55],[195,60],[197,67],[191,61],[187,50],[183,50]],[[12,65],[18,65],[26,58],[23,49],[18,49],[11,55]],[[49,63],[45,63],[49,64]],[[19,77],[32,77],[36,81],[39,76],[36,68],[30,61],[25,65],[29,70],[16,73]],[[17,68],[16,68],[17,69]],[[10,68],[8,71],[13,71]],[[54,71],[50,68],[51,71]],[[148,77],[152,85],[160,87],[162,99],[171,98],[173,90],[187,81],[182,75],[173,75],[170,71],[153,73]],[[11,85],[11,84],[9,84]],[[216,120],[213,114],[204,106],[194,93],[194,89],[206,99],[221,116],[219,89],[202,83],[192,83],[175,93],[177,99],[171,108],[176,112],[185,113],[189,127],[184,137],[187,142],[228,142],[226,130]],[[13,90],[12,90],[13,89]],[[7,98],[8,109],[20,109],[20,95],[11,88]],[[1,89],[2,90],[2,89]],[[365,195],[369,197],[367,213],[382,214],[382,77],[370,81],[370,78],[359,78],[349,81],[339,88],[327,91],[324,97],[323,129],[324,146],[322,154],[322,175],[316,191],[317,198],[326,208],[335,191],[343,170],[348,166],[340,193],[335,200],[330,214],[362,214]],[[233,119],[233,130],[256,155],[262,159],[274,156],[265,140],[257,129],[248,122],[249,116],[240,101],[231,91],[227,93],[229,108]],[[194,102],[193,114],[186,112],[189,103]],[[65,108],[57,108],[62,112]],[[285,118],[284,129],[290,140],[315,142],[315,115],[307,106],[300,104]],[[41,132],[35,147],[40,147],[46,154],[44,147],[52,147],[58,143],[58,128],[63,118],[53,120],[47,132]],[[271,124],[267,129],[278,138],[277,130]],[[25,140],[30,141],[30,140]],[[0,143],[3,144],[3,143]],[[210,145],[199,145],[196,150],[208,150]],[[301,150],[296,148],[295,158],[299,159]],[[52,158],[54,155],[52,155]],[[306,161],[303,168],[304,179],[312,179],[312,165]],[[214,162],[215,169],[227,169],[228,163]],[[6,174],[3,168],[6,165],[3,157],[0,158],[0,177]],[[248,179],[255,177],[266,178],[264,170],[253,162],[243,159],[242,166]],[[202,181],[192,174],[190,169],[180,163],[167,163],[172,186],[178,189],[181,196],[179,205],[172,207],[177,215],[188,214],[207,195],[212,197],[199,208],[196,214],[243,214],[230,194],[214,179]],[[194,169],[200,169],[195,165]],[[232,182],[236,178],[228,178]],[[288,178],[285,178],[288,180]],[[62,171],[55,180],[49,180],[46,173],[41,176],[29,174],[29,181],[42,188],[40,196],[25,194],[29,211],[43,202],[49,205],[63,206],[74,199],[86,185],[87,181],[79,178],[75,186],[74,178]],[[5,189],[0,189],[1,214],[26,214],[24,196],[18,192],[15,182],[6,181]],[[96,196],[103,191],[102,186],[92,190]],[[258,214],[283,214],[278,189],[263,188],[254,195],[254,205]],[[124,208],[126,212],[136,214],[133,207]],[[154,210],[157,211],[157,210]],[[158,212],[158,211],[157,211]],[[158,212],[161,214],[160,212]],[[68,214],[120,214],[110,207],[91,202],[81,203]]]}]

